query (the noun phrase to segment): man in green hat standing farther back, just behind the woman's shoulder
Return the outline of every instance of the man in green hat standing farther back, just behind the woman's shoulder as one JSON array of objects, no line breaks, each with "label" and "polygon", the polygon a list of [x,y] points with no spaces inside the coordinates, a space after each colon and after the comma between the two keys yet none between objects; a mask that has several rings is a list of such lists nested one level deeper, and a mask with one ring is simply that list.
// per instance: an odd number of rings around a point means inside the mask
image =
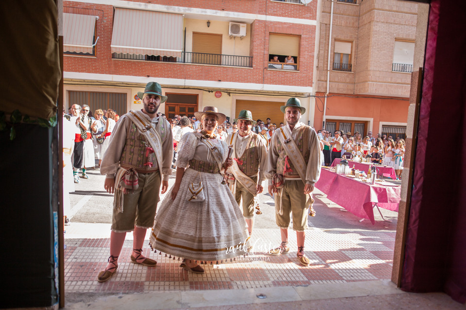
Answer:
[{"label": "man in green hat standing farther back, just behind the woman's shoulder", "polygon": [[226,141],[232,148],[233,158],[233,165],[228,169],[228,173],[234,176],[230,188],[238,205],[243,200],[243,216],[251,235],[254,226],[254,197],[263,190],[267,145],[266,140],[251,131],[252,125],[256,123],[251,111],[242,110],[234,122],[237,123],[238,131],[231,133]]}]

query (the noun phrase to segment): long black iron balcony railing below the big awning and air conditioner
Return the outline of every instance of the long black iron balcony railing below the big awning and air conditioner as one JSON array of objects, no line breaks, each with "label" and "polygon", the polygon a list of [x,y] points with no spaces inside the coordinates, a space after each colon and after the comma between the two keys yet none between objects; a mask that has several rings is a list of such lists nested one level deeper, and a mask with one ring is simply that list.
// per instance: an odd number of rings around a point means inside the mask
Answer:
[{"label": "long black iron balcony railing below the big awning and air conditioner", "polygon": [[235,55],[223,55],[223,54],[181,52],[180,57],[113,53],[112,58],[113,59],[128,59],[128,60],[143,60],[143,61],[148,61],[148,62],[197,63],[197,64],[252,68],[252,56],[235,56]]}]

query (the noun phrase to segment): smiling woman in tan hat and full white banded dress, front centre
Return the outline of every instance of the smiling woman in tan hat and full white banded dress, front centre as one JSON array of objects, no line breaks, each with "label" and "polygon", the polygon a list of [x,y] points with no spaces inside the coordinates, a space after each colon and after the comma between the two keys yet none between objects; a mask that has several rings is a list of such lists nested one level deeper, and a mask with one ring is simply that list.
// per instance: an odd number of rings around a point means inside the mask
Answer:
[{"label": "smiling woman in tan hat and full white banded dress, front centre", "polygon": [[175,184],[157,210],[150,245],[183,257],[184,269],[204,273],[198,261],[244,255],[249,233],[221,174],[233,162],[227,144],[214,133],[226,117],[215,107],[205,107],[195,115],[203,130],[186,133],[180,141]]}]

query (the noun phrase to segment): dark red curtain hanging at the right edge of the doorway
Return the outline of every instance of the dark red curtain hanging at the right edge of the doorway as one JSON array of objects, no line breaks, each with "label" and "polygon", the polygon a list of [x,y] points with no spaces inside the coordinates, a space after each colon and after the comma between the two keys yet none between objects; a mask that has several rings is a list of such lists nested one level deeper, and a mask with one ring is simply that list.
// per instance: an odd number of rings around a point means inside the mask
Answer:
[{"label": "dark red curtain hanging at the right edge of the doorway", "polygon": [[466,302],[466,1],[431,1],[401,288]]}]

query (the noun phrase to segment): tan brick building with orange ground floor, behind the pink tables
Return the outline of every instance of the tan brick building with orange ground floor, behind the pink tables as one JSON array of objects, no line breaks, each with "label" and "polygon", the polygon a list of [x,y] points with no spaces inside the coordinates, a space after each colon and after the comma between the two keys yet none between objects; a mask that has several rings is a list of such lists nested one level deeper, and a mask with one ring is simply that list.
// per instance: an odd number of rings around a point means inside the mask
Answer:
[{"label": "tan brick building with orange ground floor, behind the pink tables", "polygon": [[319,1],[316,129],[325,121],[332,132],[405,138],[415,46],[416,58],[424,55],[425,34],[416,36],[424,7],[399,0]]}]

